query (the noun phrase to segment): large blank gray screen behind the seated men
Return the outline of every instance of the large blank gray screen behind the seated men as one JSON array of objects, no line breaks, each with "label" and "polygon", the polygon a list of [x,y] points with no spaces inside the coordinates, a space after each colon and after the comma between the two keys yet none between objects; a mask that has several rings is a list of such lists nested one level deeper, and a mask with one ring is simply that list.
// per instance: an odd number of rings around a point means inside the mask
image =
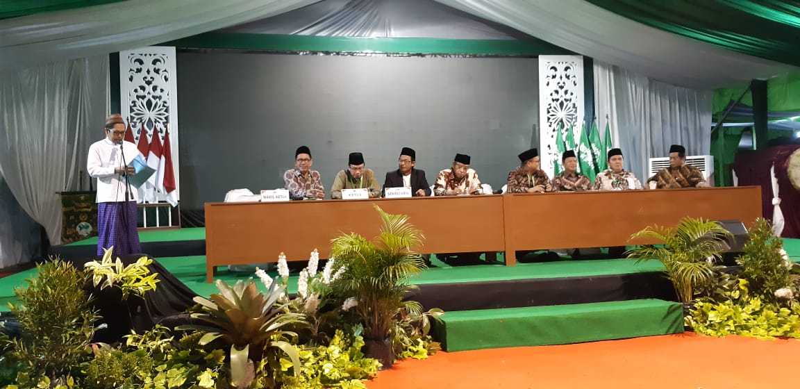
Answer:
[{"label": "large blank gray screen behind the seated men", "polygon": [[330,190],[347,154],[381,183],[402,146],[433,184],[457,152],[499,189],[538,144],[535,58],[386,58],[179,53],[181,203],[283,186],[307,145]]}]

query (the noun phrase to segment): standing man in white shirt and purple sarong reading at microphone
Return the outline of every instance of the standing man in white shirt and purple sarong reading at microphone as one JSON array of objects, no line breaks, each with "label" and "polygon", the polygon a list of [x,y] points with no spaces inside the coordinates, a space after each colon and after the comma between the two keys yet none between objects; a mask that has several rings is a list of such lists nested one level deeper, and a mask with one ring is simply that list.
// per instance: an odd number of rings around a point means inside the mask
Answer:
[{"label": "standing man in white shirt and purple sarong reading at microphone", "polygon": [[[137,190],[128,182],[135,174],[130,161],[139,155],[136,145],[125,142],[125,121],[119,114],[106,118],[106,138],[89,147],[86,171],[98,179],[98,255],[114,247],[114,255],[139,254]],[[142,133],[141,136],[147,136]]]}]

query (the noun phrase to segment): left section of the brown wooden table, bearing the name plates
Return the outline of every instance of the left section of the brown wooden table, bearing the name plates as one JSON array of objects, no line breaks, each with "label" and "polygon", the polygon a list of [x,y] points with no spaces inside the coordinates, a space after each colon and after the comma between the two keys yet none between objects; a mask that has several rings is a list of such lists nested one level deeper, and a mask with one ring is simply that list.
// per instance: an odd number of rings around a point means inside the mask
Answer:
[{"label": "left section of the brown wooden table, bearing the name plates", "polygon": [[411,199],[304,200],[286,203],[206,203],[206,280],[214,267],[269,263],[286,254],[330,254],[330,239],[356,232],[372,239],[381,219],[374,205],[409,215],[425,235],[422,254],[503,251],[501,195]]}]

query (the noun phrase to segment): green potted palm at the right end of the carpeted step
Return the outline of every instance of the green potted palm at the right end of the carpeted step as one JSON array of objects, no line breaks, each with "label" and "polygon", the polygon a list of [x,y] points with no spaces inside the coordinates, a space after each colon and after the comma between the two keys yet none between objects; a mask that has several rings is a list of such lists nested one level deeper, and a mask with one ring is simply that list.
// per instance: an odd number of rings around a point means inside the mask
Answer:
[{"label": "green potted palm at the right end of the carpeted step", "polygon": [[631,235],[631,240],[657,239],[660,244],[636,247],[627,256],[637,262],[660,261],[686,308],[694,295],[714,280],[716,263],[722,259],[722,242],[731,236],[717,222],[687,217],[674,228],[651,226]]}]

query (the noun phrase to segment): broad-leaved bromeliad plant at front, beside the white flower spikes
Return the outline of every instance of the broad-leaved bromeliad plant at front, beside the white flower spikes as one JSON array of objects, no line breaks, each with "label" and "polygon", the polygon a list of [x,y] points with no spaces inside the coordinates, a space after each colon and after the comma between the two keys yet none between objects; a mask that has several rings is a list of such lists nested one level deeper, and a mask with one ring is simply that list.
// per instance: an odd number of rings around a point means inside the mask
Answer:
[{"label": "broad-leaved bromeliad plant at front, beside the white flower spikes", "polygon": [[[287,339],[297,334],[284,331],[284,327],[293,323],[302,323],[302,315],[286,312],[278,303],[285,295],[285,287],[273,283],[265,294],[259,293],[252,279],[247,283],[239,280],[234,287],[218,279],[216,285],[220,291],[210,295],[210,299],[195,297],[194,301],[201,305],[202,312],[192,314],[193,319],[202,320],[210,326],[187,325],[182,330],[206,331],[199,341],[205,345],[214,340],[221,340],[230,345],[230,383],[234,387],[249,387],[256,378],[258,369],[269,369],[278,366],[278,349],[289,356],[294,363],[294,371],[299,371],[299,360],[294,346]],[[267,355],[267,359],[262,360]],[[274,374],[262,371],[262,382],[265,387],[275,387]]]}]

